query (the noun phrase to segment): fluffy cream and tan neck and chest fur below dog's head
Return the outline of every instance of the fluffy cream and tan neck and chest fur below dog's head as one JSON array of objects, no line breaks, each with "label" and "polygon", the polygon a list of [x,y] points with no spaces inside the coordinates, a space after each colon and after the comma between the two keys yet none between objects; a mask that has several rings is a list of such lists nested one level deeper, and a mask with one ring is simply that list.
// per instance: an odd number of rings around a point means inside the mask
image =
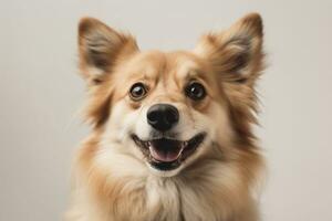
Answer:
[{"label": "fluffy cream and tan neck and chest fur below dog's head", "polygon": [[[239,169],[236,165],[222,166],[211,159],[174,177],[142,172],[138,167],[131,165],[136,173],[98,173],[101,168],[89,171],[89,180],[81,182],[89,186],[77,192],[86,198],[80,210],[94,221],[256,221],[255,203],[235,172]],[[239,217],[248,211],[252,219]]]}]

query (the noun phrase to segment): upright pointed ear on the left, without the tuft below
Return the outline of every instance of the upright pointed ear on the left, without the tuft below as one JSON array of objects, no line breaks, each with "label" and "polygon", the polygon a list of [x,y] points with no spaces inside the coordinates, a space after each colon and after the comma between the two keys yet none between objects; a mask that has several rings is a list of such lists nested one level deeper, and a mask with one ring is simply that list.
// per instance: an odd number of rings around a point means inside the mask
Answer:
[{"label": "upright pointed ear on the left, without the tuft below", "polygon": [[131,35],[101,21],[83,18],[79,24],[80,70],[89,84],[100,84],[122,57],[138,51]]}]

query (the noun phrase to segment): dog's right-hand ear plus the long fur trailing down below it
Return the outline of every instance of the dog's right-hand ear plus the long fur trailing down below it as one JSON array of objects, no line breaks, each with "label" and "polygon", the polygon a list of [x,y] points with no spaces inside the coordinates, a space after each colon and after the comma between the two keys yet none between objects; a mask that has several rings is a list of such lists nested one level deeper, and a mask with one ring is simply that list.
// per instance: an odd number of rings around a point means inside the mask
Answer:
[{"label": "dog's right-hand ear plus the long fur trailing down below it", "polygon": [[235,130],[249,146],[255,137],[250,123],[257,123],[255,83],[263,70],[262,38],[262,20],[259,14],[251,13],[224,32],[203,36],[195,49],[216,72],[232,107]]}]

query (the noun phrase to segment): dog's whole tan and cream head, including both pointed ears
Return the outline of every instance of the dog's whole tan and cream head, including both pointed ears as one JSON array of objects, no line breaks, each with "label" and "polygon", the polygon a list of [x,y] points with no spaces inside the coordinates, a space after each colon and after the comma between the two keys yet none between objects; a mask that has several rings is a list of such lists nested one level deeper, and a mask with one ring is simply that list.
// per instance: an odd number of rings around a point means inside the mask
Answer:
[{"label": "dog's whole tan and cream head, including both pointed ears", "polygon": [[258,14],[204,35],[193,51],[168,53],[141,52],[133,36],[83,19],[80,67],[91,98],[86,115],[101,135],[100,158],[175,176],[231,148],[250,149],[261,45]]}]

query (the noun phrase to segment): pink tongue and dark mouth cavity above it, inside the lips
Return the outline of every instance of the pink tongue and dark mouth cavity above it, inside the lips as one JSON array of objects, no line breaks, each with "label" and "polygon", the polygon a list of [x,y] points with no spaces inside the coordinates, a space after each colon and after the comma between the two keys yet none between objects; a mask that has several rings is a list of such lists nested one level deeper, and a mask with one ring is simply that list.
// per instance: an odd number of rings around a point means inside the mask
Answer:
[{"label": "pink tongue and dark mouth cavity above it, inside the lips", "polygon": [[181,141],[170,139],[157,139],[151,141],[149,151],[154,159],[163,162],[176,160],[184,149]]}]

